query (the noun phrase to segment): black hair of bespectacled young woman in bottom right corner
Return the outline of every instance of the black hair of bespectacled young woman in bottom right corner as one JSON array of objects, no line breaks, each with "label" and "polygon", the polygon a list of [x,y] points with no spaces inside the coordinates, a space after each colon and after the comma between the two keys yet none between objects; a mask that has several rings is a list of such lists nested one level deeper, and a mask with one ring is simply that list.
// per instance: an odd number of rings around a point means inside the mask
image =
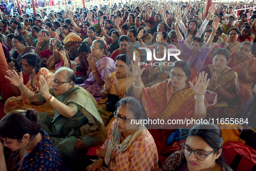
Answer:
[{"label": "black hair of bespectacled young woman in bottom right corner", "polygon": [[[203,139],[214,151],[222,148],[222,134],[221,130],[217,125],[214,124],[197,124],[192,126],[188,131],[187,137],[198,136]],[[216,154],[216,152],[214,152]],[[216,159],[216,163],[224,168],[230,169],[230,167],[225,163],[224,155],[221,154],[219,158]],[[232,170],[232,169],[231,169]]]}]

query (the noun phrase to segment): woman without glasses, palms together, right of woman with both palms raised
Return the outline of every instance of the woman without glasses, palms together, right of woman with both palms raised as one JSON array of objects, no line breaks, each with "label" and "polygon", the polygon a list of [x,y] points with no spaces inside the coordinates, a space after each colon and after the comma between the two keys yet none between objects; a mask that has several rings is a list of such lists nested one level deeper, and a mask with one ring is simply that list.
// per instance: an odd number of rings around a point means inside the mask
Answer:
[{"label": "woman without glasses, palms together, right of woman with both palms raised", "polygon": [[230,53],[227,49],[217,48],[213,53],[213,64],[206,65],[200,72],[207,73],[211,79],[207,90],[217,94],[217,103],[225,107],[214,107],[207,111],[207,118],[234,118],[240,110],[240,88],[237,72],[227,67]]}]

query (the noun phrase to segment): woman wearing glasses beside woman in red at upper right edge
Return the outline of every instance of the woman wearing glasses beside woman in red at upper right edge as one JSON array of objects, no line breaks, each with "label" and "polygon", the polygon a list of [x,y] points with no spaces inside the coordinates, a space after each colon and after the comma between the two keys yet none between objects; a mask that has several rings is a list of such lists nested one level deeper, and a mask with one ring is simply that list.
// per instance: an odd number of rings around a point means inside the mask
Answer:
[{"label": "woman wearing glasses beside woman in red at upper right edge", "polygon": [[226,48],[230,53],[237,52],[237,49],[240,46],[240,42],[237,42],[237,37],[239,34],[240,31],[236,27],[229,29],[227,32],[228,39],[227,37],[223,38],[224,42],[220,44],[220,48]]}]

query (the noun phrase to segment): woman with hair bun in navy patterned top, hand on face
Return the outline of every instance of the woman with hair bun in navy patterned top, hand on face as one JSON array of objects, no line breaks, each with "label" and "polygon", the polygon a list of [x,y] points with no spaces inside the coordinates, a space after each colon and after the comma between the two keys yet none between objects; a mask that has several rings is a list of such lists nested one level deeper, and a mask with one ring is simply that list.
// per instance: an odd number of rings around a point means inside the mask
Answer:
[{"label": "woman with hair bun in navy patterned top, hand on face", "polygon": [[41,129],[36,110],[14,110],[4,116],[0,120],[0,139],[1,171],[68,170],[49,135]]}]

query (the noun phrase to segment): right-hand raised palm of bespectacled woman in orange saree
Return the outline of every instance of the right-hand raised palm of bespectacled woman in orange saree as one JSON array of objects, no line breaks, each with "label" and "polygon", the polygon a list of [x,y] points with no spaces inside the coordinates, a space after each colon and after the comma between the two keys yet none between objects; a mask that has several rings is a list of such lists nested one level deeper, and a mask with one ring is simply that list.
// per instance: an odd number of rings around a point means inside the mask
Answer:
[{"label": "right-hand raised palm of bespectacled woman in orange saree", "polygon": [[201,72],[199,73],[198,82],[197,82],[197,84],[195,84],[195,86],[193,85],[193,83],[191,81],[188,81],[191,89],[193,90],[194,94],[197,97],[204,95],[209,82],[210,82],[210,78],[207,80],[207,73],[204,74],[204,71],[202,73]]}]

